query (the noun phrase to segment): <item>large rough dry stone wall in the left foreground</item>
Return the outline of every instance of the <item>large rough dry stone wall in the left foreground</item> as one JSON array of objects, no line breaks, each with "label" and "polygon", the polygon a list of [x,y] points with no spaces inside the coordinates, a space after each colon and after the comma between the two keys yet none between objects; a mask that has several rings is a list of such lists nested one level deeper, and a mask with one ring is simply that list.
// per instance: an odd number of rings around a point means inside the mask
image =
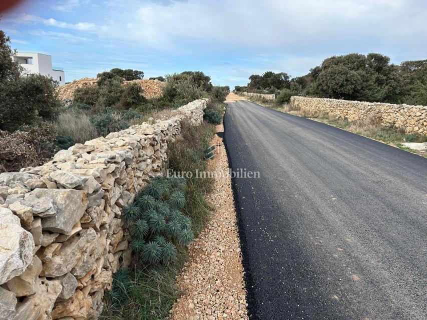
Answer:
[{"label": "large rough dry stone wall in the left foreground", "polygon": [[184,119],[200,124],[205,107],[195,100],[0,174],[0,319],[98,317],[112,274],[131,259],[121,207],[163,174],[168,142]]}]

